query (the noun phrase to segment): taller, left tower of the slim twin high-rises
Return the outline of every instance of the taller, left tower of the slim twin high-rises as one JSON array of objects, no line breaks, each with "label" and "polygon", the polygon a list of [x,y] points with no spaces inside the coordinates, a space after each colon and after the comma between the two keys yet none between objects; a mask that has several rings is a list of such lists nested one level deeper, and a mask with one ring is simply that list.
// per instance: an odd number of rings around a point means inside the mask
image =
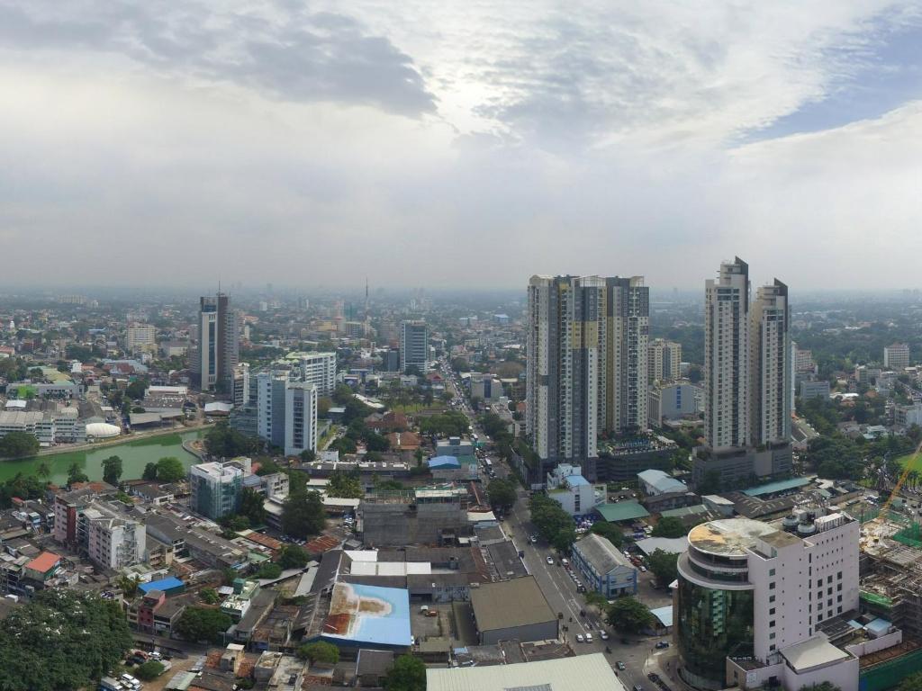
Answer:
[{"label": "taller, left tower of the slim twin high-rises", "polygon": [[721,264],[704,291],[704,435],[728,451],[750,442],[749,264]]}]

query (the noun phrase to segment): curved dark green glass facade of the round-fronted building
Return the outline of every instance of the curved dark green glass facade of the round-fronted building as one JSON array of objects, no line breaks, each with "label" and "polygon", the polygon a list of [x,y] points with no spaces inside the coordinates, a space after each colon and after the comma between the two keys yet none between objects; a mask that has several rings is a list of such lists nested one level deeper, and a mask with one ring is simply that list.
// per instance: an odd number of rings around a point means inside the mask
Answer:
[{"label": "curved dark green glass facade of the round-fronted building", "polygon": [[680,575],[676,624],[686,682],[723,688],[727,656],[752,655],[752,593],[705,588]]}]

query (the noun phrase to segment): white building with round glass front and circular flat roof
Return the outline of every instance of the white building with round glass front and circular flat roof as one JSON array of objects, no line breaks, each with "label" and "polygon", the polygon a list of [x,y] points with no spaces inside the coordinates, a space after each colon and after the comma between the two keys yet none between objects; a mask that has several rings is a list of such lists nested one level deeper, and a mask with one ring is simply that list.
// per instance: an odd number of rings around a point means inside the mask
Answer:
[{"label": "white building with round glass front and circular flat roof", "polygon": [[775,525],[736,518],[693,528],[675,600],[683,679],[703,689],[830,681],[857,691],[857,656],[822,628],[857,615],[859,530],[844,513],[807,511]]}]

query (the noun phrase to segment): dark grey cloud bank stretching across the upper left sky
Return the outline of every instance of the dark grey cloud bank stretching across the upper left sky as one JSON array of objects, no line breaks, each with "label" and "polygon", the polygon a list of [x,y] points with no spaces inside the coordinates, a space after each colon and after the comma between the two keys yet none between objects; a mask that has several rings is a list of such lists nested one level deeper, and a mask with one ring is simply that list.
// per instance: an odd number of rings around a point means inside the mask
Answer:
[{"label": "dark grey cloud bank stretching across the upper left sky", "polygon": [[122,53],[166,74],[230,81],[280,100],[409,116],[435,110],[410,56],[346,15],[291,3],[272,7],[275,21],[195,4],[58,5],[0,5],[0,47]]}]

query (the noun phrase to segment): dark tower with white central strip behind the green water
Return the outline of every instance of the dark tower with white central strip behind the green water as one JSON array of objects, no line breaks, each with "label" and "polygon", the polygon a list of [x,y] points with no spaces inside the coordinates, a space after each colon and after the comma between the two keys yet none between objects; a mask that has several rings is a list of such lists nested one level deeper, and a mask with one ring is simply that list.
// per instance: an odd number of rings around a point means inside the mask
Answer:
[{"label": "dark tower with white central strip behind the green water", "polygon": [[198,350],[192,360],[192,372],[202,391],[218,387],[227,390],[240,359],[238,322],[227,295],[199,299]]}]

